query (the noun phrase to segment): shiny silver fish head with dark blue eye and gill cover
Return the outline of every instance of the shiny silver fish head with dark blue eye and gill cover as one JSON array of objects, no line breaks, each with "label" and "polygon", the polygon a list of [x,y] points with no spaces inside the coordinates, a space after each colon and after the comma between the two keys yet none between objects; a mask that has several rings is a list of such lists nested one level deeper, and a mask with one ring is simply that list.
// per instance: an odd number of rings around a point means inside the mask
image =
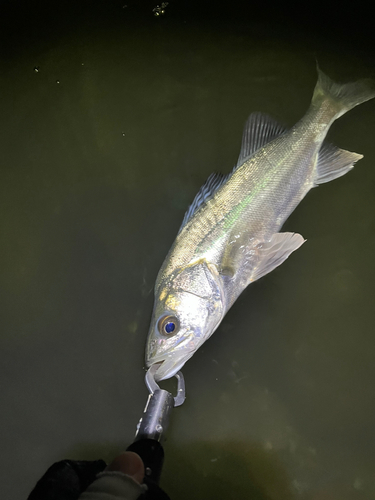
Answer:
[{"label": "shiny silver fish head with dark blue eye and gill cover", "polygon": [[146,346],[146,364],[159,364],[155,380],[173,377],[212,335],[223,317],[216,268],[205,261],[161,280]]}]

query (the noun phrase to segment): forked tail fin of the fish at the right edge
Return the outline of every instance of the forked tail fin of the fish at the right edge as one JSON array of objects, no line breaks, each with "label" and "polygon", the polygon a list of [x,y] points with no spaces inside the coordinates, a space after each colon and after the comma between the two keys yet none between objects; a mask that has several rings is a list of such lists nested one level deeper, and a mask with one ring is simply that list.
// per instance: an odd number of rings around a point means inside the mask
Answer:
[{"label": "forked tail fin of the fish at the right edge", "polygon": [[329,99],[336,110],[335,118],[350,109],[375,97],[375,82],[371,79],[351,83],[335,83],[317,65],[318,82],[315,86],[312,102]]}]

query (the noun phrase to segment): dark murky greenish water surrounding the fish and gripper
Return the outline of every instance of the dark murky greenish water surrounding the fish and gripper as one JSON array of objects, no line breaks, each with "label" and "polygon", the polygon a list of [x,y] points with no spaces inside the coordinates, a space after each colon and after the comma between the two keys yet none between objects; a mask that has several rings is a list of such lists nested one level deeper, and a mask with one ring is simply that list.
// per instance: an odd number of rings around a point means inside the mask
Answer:
[{"label": "dark murky greenish water surrounding the fish and gripper", "polygon": [[[54,461],[111,460],[147,391],[157,271],[253,111],[292,125],[315,57],[374,75],[361,4],[3,2],[0,32],[2,498]],[[36,68],[36,69],[34,69]],[[238,299],[187,363],[165,444],[173,499],[375,497],[375,102],[331,129],[365,155],[309,193],[307,243]]]}]

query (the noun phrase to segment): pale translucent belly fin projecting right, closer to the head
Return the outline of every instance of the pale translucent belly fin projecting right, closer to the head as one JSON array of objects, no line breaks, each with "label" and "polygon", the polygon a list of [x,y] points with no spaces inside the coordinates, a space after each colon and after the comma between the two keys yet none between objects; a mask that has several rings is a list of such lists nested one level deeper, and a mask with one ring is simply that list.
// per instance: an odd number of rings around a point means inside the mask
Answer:
[{"label": "pale translucent belly fin projecting right, closer to the head", "polygon": [[252,272],[250,282],[273,271],[304,242],[304,238],[298,233],[275,233],[270,241],[259,246],[261,259]]}]

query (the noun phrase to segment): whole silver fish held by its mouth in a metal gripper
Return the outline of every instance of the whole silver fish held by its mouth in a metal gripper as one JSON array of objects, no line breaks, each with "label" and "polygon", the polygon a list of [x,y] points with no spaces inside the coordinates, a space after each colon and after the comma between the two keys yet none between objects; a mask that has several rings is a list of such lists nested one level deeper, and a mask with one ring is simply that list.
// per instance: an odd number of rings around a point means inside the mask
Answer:
[{"label": "whole silver fish held by its mouth in a metal gripper", "polygon": [[370,81],[341,85],[318,68],[311,105],[291,129],[250,115],[237,165],[202,186],[159,271],[146,346],[156,380],[177,373],[240,293],[304,243],[279,230],[312,187],[363,157],[323,141],[337,118],[373,97]]}]

